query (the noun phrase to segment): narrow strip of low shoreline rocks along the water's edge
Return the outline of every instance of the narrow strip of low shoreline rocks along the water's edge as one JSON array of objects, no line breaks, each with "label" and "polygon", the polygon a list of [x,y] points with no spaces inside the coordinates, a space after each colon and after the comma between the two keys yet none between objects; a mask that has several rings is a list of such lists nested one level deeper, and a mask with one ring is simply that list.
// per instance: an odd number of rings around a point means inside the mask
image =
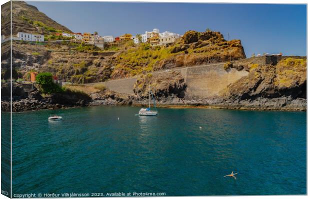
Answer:
[{"label": "narrow strip of low shoreline rocks along the water's edge", "polygon": [[[105,97],[91,99],[89,101],[78,100],[72,104],[54,102],[51,97],[42,98],[24,98],[12,102],[12,111],[21,112],[28,110],[40,109],[60,109],[82,106],[101,106],[101,105],[131,105],[145,106],[148,102],[146,99],[136,99],[132,96],[127,98]],[[257,98],[255,100],[211,100],[211,99],[180,99],[169,97],[166,100],[159,100],[157,107],[167,108],[219,108],[219,109],[240,109],[240,110],[280,110],[280,111],[306,111],[306,99],[291,97],[278,98]],[[1,100],[2,111],[10,111],[8,101]]]}]

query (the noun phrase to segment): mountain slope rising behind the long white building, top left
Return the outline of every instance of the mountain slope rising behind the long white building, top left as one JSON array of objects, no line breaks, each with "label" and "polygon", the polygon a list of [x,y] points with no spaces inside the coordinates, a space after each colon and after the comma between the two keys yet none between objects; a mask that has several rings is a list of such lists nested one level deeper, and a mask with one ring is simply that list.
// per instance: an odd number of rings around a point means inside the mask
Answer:
[{"label": "mountain slope rising behind the long white building, top left", "polygon": [[[29,32],[49,34],[53,31],[71,32],[35,6],[24,1],[12,1],[12,33]],[[10,1],[1,5],[1,34],[10,35]]]}]

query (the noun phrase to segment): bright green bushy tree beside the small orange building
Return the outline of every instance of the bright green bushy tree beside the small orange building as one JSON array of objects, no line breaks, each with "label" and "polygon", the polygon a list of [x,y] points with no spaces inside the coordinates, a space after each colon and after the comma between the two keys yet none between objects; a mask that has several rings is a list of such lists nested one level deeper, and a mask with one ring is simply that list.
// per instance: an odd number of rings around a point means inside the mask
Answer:
[{"label": "bright green bushy tree beside the small orange building", "polygon": [[36,75],[36,83],[40,86],[43,93],[60,92],[62,89],[59,85],[55,84],[52,80],[52,74],[50,72],[42,72]]}]

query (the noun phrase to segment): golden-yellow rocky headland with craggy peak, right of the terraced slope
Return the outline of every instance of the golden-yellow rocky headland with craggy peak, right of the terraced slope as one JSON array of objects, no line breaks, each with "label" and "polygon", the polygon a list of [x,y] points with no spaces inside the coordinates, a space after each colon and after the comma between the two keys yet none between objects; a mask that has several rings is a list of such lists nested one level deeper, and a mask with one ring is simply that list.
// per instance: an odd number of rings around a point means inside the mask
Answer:
[{"label": "golden-yellow rocky headland with craggy peak, right of the terraced slope", "polygon": [[113,60],[111,78],[240,58],[245,58],[240,40],[227,41],[220,32],[190,30],[170,45],[151,47],[142,43],[124,50]]}]

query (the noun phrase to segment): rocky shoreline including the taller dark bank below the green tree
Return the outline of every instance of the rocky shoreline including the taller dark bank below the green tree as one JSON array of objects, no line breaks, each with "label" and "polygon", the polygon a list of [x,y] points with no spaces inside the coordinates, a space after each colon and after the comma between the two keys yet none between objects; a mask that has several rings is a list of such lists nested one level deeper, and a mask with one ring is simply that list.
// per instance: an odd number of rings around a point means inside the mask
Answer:
[{"label": "rocky shoreline including the taller dark bank below the green tree", "polygon": [[[9,86],[1,86],[1,111],[10,111]],[[132,105],[145,106],[148,104],[147,96],[121,94],[110,90],[77,94],[75,92],[53,93],[42,95],[34,84],[18,84],[12,87],[12,111],[21,112],[40,109],[59,109],[81,106],[100,105]],[[244,110],[283,110],[306,111],[306,98],[293,98],[282,96],[275,98],[256,97],[254,99],[231,99],[212,97],[199,99],[185,96],[178,97],[170,93],[168,96],[156,98],[158,107],[196,107],[196,108],[224,108]]]}]

